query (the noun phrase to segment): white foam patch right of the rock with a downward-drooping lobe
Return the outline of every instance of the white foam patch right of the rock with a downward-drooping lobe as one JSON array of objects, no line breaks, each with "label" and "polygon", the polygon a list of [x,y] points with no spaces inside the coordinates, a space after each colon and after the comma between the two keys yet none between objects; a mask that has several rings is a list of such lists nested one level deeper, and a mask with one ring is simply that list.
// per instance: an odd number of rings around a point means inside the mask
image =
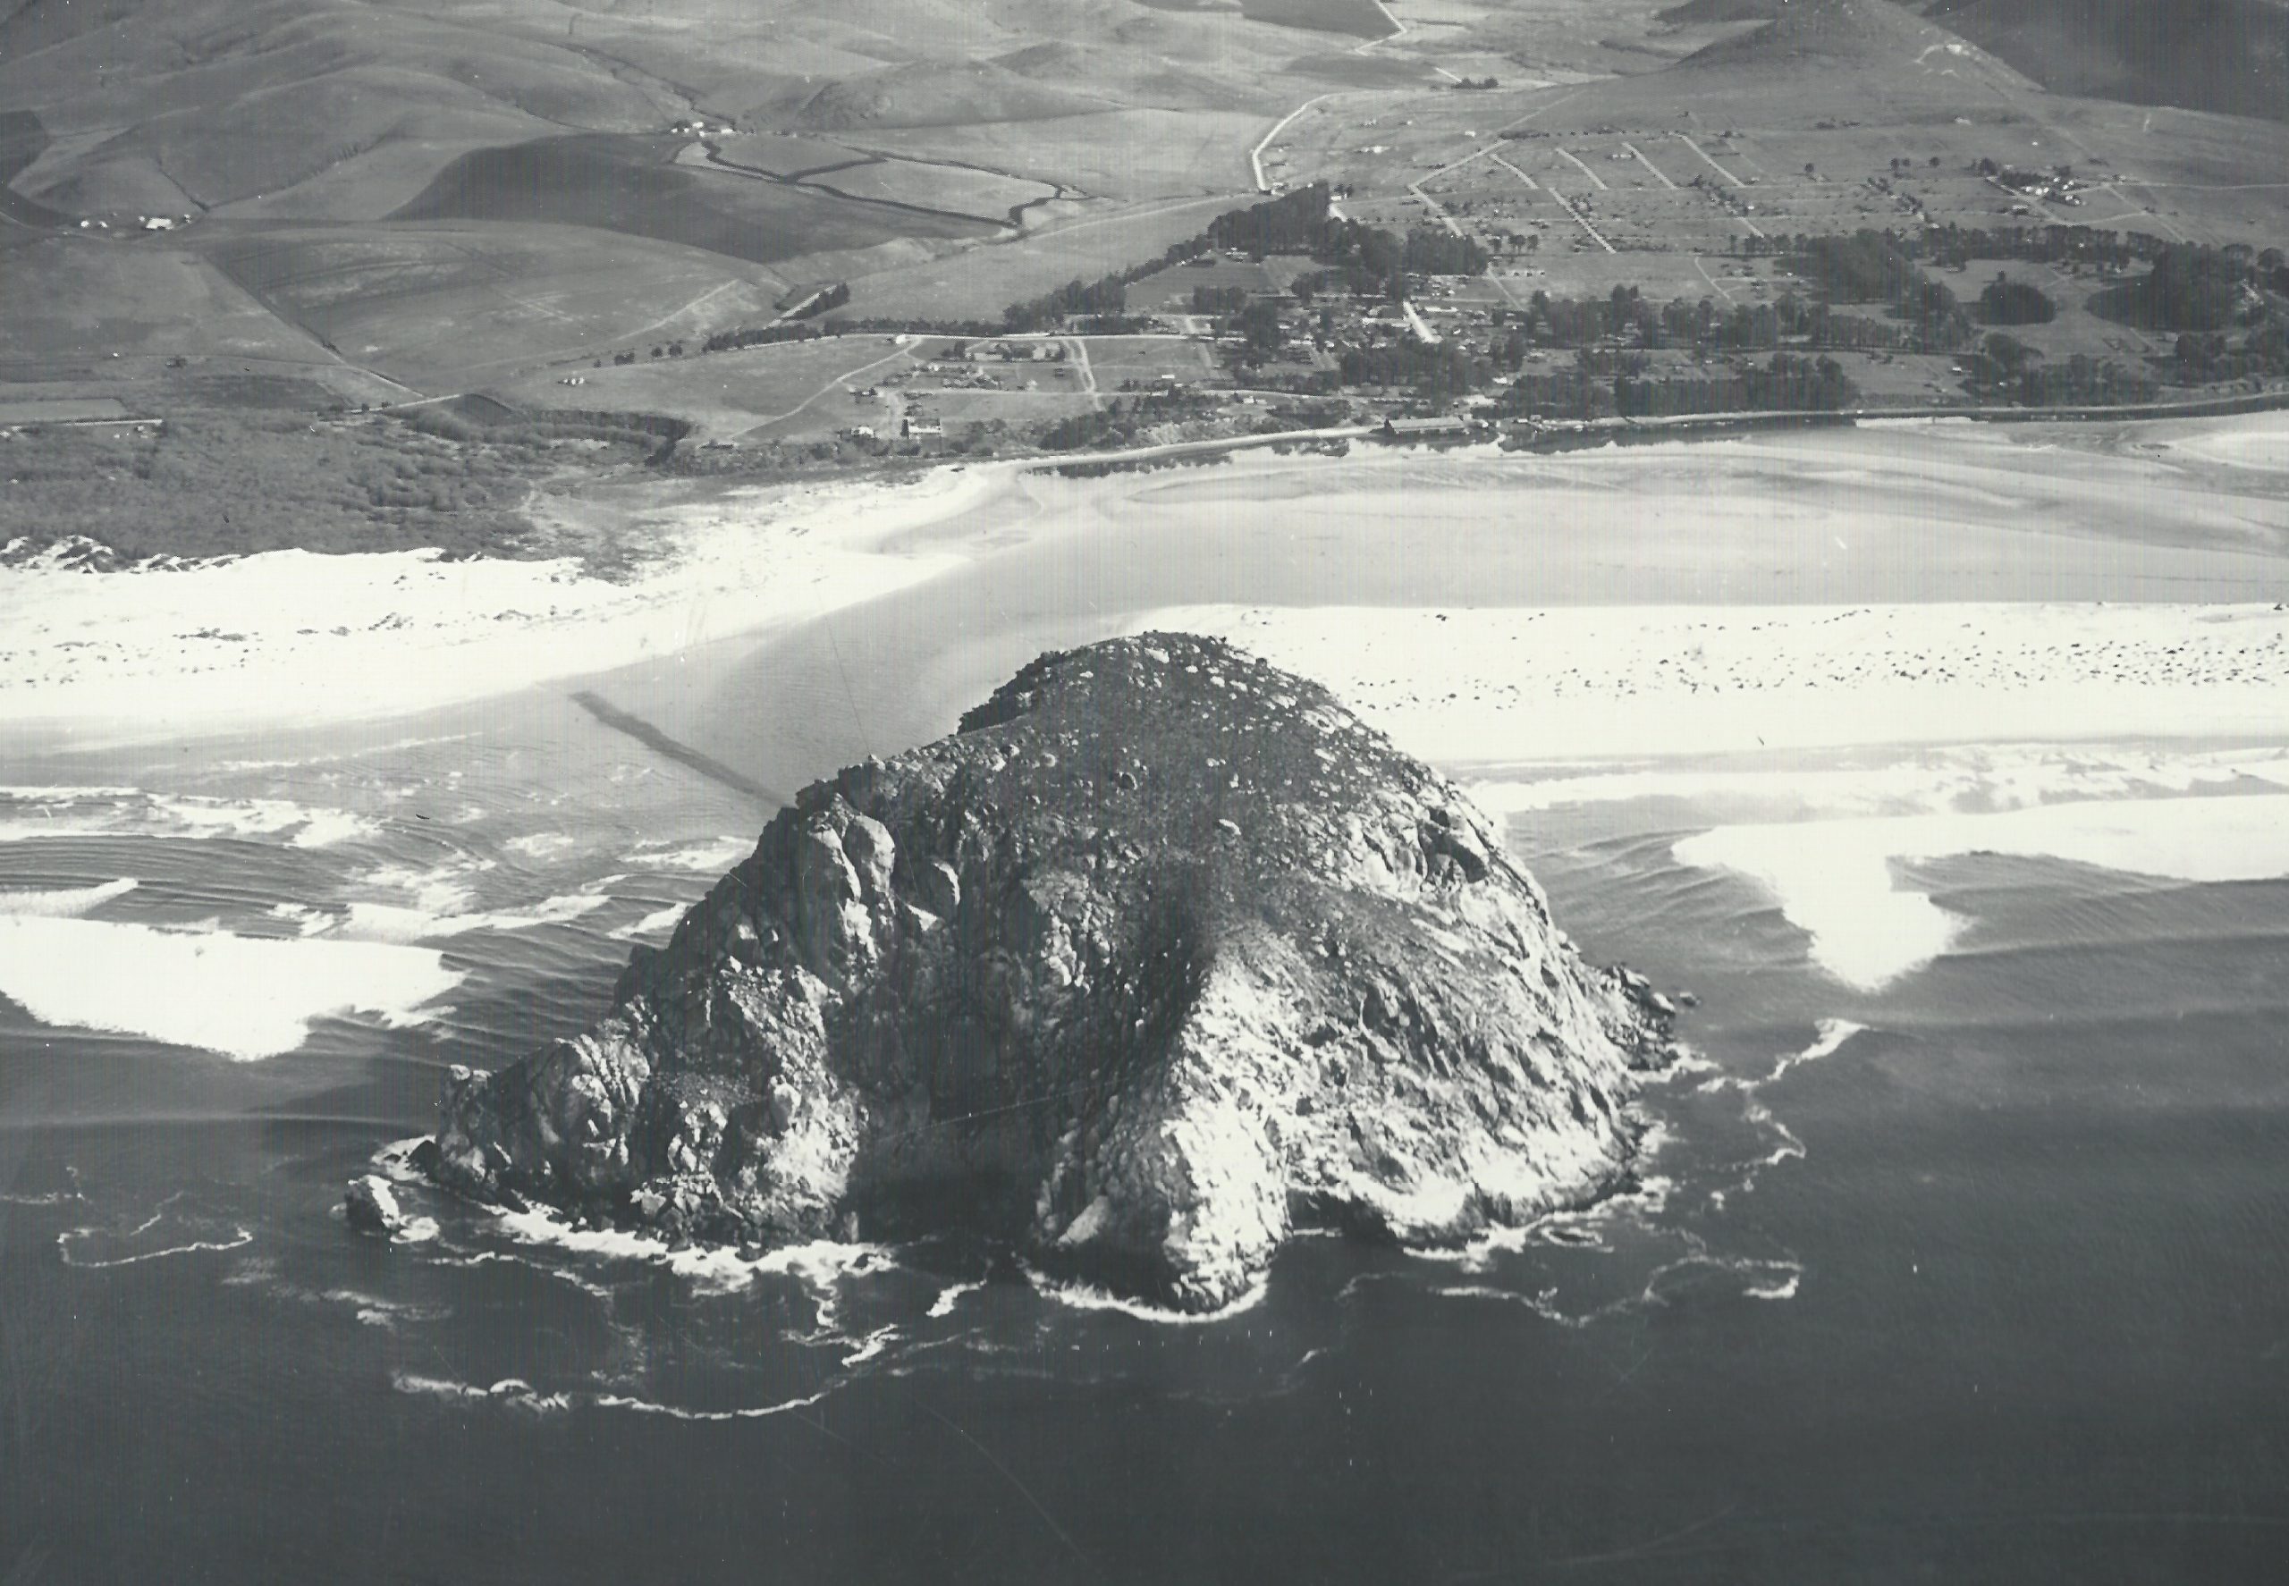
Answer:
[{"label": "white foam patch right of the rock with a downward-drooping lobe", "polygon": [[1893,861],[2010,854],[2177,881],[2268,881],[2289,874],[2289,794],[1719,826],[1673,854],[1682,865],[1758,881],[1813,938],[1820,968],[1879,991],[1943,954],[1966,925],[1930,897],[1898,890]]}]

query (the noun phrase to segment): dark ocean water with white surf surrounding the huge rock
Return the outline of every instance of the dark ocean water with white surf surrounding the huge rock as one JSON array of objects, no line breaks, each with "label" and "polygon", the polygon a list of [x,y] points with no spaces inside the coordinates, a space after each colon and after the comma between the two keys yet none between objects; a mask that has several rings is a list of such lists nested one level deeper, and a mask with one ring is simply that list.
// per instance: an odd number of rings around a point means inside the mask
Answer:
[{"label": "dark ocean water with white surf surrounding the huge rock", "polygon": [[[847,755],[797,705],[897,748],[998,664],[948,632],[918,687],[920,622],[824,632],[613,684],[682,737],[751,707],[694,758],[545,693],[11,760],[0,1579],[2278,1579],[2289,881],[2021,831],[2255,817],[2278,744],[1458,767],[1698,1055],[1632,1195],[1302,1240],[1222,1318],[419,1183],[410,1238],[350,1234],[444,1064],[593,1018],[751,847],[742,785]],[[1882,819],[1946,833],[1833,835]],[[1856,858],[1776,879],[1779,822]],[[1875,890],[1943,931],[1840,950]]]}]

